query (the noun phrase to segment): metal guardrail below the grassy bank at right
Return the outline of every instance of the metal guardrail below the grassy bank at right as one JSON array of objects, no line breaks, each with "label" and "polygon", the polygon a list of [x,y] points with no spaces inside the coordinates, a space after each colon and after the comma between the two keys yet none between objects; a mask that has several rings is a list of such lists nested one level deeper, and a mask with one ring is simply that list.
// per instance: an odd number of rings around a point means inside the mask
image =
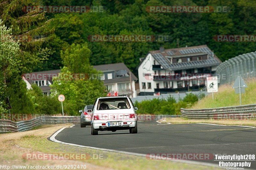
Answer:
[{"label": "metal guardrail below the grassy bank at right", "polygon": [[192,119],[213,119],[218,114],[250,115],[256,113],[256,104],[218,107],[210,109],[180,109],[181,117]]}]

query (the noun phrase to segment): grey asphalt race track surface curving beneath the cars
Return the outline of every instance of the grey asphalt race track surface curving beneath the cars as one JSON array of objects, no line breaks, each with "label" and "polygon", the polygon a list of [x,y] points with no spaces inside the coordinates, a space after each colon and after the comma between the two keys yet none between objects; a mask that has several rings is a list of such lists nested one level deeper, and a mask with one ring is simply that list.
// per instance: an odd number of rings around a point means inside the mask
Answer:
[{"label": "grey asphalt race track surface curving beneath the cars", "polygon": [[[205,124],[159,124],[139,122],[138,134],[129,130],[99,131],[91,135],[89,126],[65,128],[55,139],[78,145],[134,153],[211,153],[227,155],[256,154],[256,128]],[[214,160],[196,160],[218,164]],[[252,169],[256,162],[250,161]]]}]

